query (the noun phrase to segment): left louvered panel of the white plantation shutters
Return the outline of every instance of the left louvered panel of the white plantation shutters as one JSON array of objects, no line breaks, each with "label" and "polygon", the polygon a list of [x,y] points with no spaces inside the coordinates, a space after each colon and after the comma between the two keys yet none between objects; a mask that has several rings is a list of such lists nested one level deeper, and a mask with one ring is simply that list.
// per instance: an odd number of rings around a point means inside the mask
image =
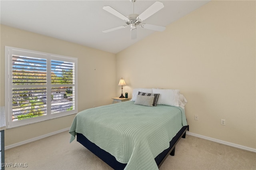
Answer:
[{"label": "left louvered panel of the white plantation shutters", "polygon": [[46,59],[12,55],[12,121],[46,115]]}]

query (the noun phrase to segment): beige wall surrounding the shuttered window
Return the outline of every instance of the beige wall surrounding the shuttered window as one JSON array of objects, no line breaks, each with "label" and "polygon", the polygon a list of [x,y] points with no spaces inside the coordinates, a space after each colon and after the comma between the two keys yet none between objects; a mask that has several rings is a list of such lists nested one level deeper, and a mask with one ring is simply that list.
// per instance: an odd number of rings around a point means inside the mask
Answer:
[{"label": "beige wall surrounding the shuttered window", "polygon": [[[116,55],[1,25],[0,106],[4,106],[4,47],[78,58],[78,110],[112,103],[116,96]],[[100,61],[100,62],[99,62]],[[74,115],[5,131],[5,146],[70,127]]]}]

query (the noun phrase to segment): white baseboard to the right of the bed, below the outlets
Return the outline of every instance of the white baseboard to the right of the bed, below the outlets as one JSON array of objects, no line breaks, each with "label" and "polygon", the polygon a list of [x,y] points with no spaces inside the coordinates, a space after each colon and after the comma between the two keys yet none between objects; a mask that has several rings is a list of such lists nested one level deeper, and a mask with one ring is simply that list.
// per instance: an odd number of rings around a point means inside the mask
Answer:
[{"label": "white baseboard to the right of the bed, below the outlets", "polygon": [[198,138],[203,138],[203,139],[206,139],[206,140],[210,140],[210,141],[213,141],[213,142],[225,144],[225,145],[228,145],[228,146],[233,146],[235,148],[240,148],[240,149],[248,150],[248,151],[251,151],[251,152],[256,152],[256,149],[249,148],[247,146],[242,146],[242,145],[239,145],[239,144],[234,144],[234,143],[231,143],[231,142],[226,142],[226,141],[218,140],[218,139],[215,139],[215,138],[210,138],[210,137],[207,137],[207,136],[191,133],[191,132],[188,132],[188,131],[186,132],[186,134],[191,135],[191,136],[196,136]]}]

